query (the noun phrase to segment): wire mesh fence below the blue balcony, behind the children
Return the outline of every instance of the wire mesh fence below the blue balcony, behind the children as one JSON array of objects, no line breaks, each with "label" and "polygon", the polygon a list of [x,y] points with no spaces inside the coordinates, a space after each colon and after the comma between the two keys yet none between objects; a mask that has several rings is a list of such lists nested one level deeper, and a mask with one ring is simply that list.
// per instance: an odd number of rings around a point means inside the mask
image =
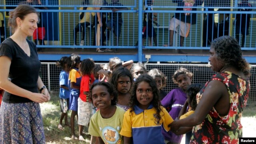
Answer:
[{"label": "wire mesh fence below the blue balcony, behind the children", "polygon": [[[42,68],[40,76],[44,84],[50,91],[59,91],[59,74],[61,68],[58,68],[54,62],[42,62]],[[99,63],[96,63],[99,64]],[[165,92],[170,92],[174,88],[178,88],[176,84],[172,82],[172,75],[180,68],[187,68],[194,76],[192,83],[206,83],[207,80],[215,74],[208,64],[145,64],[147,70],[157,68],[161,70],[166,76],[166,87],[163,88]],[[250,76],[250,101],[256,102],[256,65],[251,65],[251,76]]]}]

